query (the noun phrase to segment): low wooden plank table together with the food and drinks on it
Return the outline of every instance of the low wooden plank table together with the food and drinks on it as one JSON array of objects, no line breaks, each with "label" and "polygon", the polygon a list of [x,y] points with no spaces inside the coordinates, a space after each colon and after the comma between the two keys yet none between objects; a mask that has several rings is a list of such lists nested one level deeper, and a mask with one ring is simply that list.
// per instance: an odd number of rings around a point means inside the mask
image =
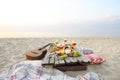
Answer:
[{"label": "low wooden plank table together with the food and drinks on it", "polygon": [[57,46],[52,44],[48,53],[43,58],[42,65],[52,65],[53,68],[61,71],[86,70],[90,60],[80,53],[76,48],[76,43]]}]

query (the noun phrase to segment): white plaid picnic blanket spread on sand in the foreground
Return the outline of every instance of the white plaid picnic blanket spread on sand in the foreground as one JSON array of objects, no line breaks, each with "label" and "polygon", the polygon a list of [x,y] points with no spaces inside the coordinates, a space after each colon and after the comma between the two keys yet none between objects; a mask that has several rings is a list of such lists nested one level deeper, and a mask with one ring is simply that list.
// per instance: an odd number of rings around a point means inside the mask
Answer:
[{"label": "white plaid picnic blanket spread on sand in the foreground", "polygon": [[94,72],[76,78],[70,77],[65,73],[53,69],[44,68],[42,61],[22,61],[9,67],[0,75],[0,80],[101,80],[100,76]]}]

